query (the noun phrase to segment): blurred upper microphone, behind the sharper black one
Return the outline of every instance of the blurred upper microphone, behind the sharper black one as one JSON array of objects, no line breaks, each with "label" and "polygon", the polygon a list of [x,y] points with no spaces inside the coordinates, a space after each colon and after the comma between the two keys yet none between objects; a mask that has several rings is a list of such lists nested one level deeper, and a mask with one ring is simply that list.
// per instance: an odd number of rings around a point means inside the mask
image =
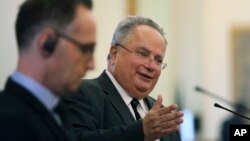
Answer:
[{"label": "blurred upper microphone, behind the sharper black one", "polygon": [[212,92],[210,92],[208,90],[205,90],[205,89],[203,89],[203,88],[201,88],[199,86],[196,86],[195,90],[200,92],[200,93],[203,93],[203,94],[205,94],[205,95],[207,95],[209,97],[212,97],[213,99],[220,100],[220,101],[222,101],[222,102],[224,102],[224,103],[226,103],[226,104],[228,104],[228,105],[230,105],[232,107],[242,108],[245,111],[250,111],[249,108],[247,108],[246,106],[244,106],[242,104],[230,102],[230,101],[228,101],[228,100],[226,100],[226,99],[224,99],[222,97],[219,97],[218,95],[216,95],[216,94],[214,94],[214,93],[212,93]]}]

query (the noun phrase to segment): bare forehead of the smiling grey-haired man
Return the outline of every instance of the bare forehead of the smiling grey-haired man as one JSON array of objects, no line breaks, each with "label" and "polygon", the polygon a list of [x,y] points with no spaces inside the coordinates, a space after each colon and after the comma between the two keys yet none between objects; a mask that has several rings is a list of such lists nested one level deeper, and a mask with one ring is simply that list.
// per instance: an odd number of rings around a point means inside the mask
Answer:
[{"label": "bare forehead of the smiling grey-haired man", "polygon": [[161,55],[164,55],[166,50],[162,35],[148,25],[136,26],[128,35],[126,45],[132,46],[132,48],[142,47]]}]

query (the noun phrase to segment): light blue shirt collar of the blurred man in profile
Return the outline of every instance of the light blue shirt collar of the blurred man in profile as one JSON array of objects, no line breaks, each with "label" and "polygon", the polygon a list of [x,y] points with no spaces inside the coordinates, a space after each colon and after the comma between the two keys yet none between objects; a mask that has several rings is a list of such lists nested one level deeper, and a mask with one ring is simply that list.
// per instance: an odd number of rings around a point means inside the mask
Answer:
[{"label": "light blue shirt collar of the blurred man in profile", "polygon": [[52,111],[59,103],[59,97],[57,95],[31,77],[15,71],[11,75],[11,78],[16,83],[29,90],[49,111]]}]

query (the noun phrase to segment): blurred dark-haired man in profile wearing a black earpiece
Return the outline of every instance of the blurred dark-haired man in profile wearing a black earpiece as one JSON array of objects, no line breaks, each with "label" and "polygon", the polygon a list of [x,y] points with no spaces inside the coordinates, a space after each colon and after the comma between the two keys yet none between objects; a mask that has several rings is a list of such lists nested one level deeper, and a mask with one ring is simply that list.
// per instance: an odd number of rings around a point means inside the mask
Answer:
[{"label": "blurred dark-haired man in profile wearing a black earpiece", "polygon": [[16,20],[17,70],[0,93],[1,141],[66,141],[60,98],[94,68],[90,0],[26,0]]}]

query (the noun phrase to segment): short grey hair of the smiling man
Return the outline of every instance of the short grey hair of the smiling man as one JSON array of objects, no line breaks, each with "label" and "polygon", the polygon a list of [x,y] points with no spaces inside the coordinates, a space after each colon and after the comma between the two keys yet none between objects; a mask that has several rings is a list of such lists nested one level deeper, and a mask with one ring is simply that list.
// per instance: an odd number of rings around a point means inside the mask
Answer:
[{"label": "short grey hair of the smiling man", "polygon": [[165,33],[163,29],[153,20],[149,18],[145,18],[145,17],[140,17],[140,16],[129,16],[125,18],[124,20],[122,20],[118,24],[113,34],[111,45],[114,46],[116,43],[123,44],[124,42],[126,42],[128,35],[138,25],[148,25],[156,29],[162,35],[165,45],[167,45],[167,40],[165,38]]}]

